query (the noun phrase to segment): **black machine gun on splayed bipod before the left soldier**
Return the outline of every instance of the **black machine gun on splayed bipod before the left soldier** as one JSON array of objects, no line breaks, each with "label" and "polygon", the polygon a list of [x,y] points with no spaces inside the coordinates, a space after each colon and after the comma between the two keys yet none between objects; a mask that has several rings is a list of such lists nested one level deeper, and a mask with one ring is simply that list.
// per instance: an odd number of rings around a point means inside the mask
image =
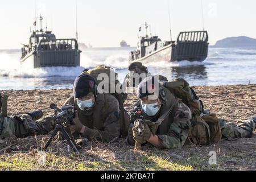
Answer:
[{"label": "black machine gun on splayed bipod before the left soldier", "polygon": [[65,123],[66,126],[70,126],[73,124],[75,107],[73,105],[67,105],[59,109],[56,104],[51,104],[50,108],[54,109],[54,119],[55,119],[56,126],[51,136],[48,138],[46,144],[44,145],[43,150],[46,151],[47,147],[52,142],[52,139],[60,131],[62,136],[68,141],[69,145],[73,147],[73,150],[75,152],[79,152],[77,150],[77,146],[75,144],[76,142],[75,142],[75,139],[73,138],[73,135],[72,134],[69,135],[63,126],[63,123]]}]

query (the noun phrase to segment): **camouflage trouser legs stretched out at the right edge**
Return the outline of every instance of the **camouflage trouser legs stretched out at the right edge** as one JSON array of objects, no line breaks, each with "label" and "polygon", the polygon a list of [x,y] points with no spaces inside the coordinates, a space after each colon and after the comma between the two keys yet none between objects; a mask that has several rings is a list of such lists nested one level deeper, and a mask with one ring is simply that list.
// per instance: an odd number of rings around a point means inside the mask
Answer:
[{"label": "camouflage trouser legs stretched out at the right edge", "polygon": [[219,119],[221,125],[222,138],[250,138],[256,127],[256,117],[247,119],[238,124],[226,122],[225,119]]}]

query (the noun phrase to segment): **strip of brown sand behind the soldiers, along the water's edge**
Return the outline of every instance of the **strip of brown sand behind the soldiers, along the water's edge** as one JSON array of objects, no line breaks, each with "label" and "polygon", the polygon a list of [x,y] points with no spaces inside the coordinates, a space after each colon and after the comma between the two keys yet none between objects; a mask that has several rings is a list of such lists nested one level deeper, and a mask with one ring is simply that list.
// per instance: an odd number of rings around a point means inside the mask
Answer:
[{"label": "strip of brown sand behind the soldiers, along the water's edge", "polygon": [[[193,86],[197,96],[203,101],[205,109],[216,113],[217,117],[232,122],[256,115],[256,84]],[[8,113],[20,114],[42,109],[45,114],[52,112],[49,105],[53,102],[59,107],[72,95],[72,89],[34,89],[1,90],[9,95]],[[236,102],[234,102],[236,101]],[[137,102],[136,94],[128,94],[125,107],[131,111]]]}]

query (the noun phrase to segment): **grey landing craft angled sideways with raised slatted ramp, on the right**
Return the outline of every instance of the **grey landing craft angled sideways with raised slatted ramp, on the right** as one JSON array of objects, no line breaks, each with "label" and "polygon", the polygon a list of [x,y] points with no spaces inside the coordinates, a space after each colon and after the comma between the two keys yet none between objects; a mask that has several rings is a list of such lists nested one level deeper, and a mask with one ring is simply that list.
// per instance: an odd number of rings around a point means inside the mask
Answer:
[{"label": "grey landing craft angled sideways with raised slatted ramp, on the right", "polygon": [[[153,61],[204,61],[208,56],[207,31],[180,32],[177,41],[162,41],[158,36],[138,36],[137,50],[130,52],[130,61],[150,63]],[[139,28],[139,33],[142,27]]]}]

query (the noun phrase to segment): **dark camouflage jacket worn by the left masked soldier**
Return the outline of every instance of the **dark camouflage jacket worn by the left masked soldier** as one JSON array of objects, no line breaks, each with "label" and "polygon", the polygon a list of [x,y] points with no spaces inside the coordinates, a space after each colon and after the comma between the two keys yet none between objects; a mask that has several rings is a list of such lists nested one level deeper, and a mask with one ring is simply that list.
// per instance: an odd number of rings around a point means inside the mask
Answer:
[{"label": "dark camouflage jacket worn by the left masked soldier", "polygon": [[96,103],[88,110],[81,110],[74,97],[65,101],[64,105],[74,104],[82,125],[85,126],[83,137],[110,142],[119,137],[121,119],[118,100],[111,94],[98,94]]}]

